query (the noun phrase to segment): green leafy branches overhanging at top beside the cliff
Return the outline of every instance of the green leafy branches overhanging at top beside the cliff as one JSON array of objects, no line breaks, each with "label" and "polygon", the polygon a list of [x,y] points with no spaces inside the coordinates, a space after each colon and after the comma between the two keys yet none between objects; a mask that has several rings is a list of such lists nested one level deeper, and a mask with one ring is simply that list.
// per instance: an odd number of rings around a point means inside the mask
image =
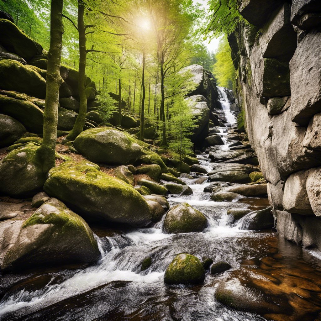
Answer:
[{"label": "green leafy branches overhanging at top beside the cliff", "polygon": [[206,31],[211,33],[211,38],[230,34],[240,20],[244,21],[238,11],[238,0],[209,0],[208,4],[212,14],[208,17]]}]

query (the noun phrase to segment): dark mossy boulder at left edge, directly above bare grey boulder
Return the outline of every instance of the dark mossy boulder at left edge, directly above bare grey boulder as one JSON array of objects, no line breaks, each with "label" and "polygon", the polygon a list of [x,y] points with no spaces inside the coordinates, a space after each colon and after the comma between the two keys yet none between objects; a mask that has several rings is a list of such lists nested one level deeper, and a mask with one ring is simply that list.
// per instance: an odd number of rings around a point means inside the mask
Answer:
[{"label": "dark mossy boulder at left edge, directly above bare grey boulder", "polygon": [[30,100],[26,95],[0,95],[0,112],[18,120],[28,131],[39,134],[43,131],[43,111]]}]

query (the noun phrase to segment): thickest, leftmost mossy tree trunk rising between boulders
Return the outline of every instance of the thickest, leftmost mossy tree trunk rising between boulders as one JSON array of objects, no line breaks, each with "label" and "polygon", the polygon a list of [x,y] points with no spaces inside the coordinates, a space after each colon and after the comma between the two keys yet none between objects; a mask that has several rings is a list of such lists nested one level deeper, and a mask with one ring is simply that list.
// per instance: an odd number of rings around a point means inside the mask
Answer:
[{"label": "thickest, leftmost mossy tree trunk rising between boulders", "polygon": [[59,87],[63,80],[60,76],[61,42],[64,33],[62,24],[63,0],[52,0],[50,8],[50,48],[48,52],[46,102],[43,113],[43,139],[38,149],[42,170],[47,173],[56,166],[55,152],[58,124]]}]

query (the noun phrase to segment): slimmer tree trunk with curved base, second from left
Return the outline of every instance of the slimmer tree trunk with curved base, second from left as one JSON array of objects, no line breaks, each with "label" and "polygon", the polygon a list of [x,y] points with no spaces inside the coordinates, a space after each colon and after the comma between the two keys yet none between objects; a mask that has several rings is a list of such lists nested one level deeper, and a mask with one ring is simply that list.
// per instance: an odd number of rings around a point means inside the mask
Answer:
[{"label": "slimmer tree trunk with curved base, second from left", "polygon": [[[86,27],[84,24],[85,7],[82,0],[78,0],[78,33],[79,33],[79,68],[78,68],[78,90],[79,90],[79,113],[72,131],[67,135],[65,141],[73,141],[83,130],[87,113],[87,94],[86,94]],[[65,142],[64,141],[64,142]]]}]

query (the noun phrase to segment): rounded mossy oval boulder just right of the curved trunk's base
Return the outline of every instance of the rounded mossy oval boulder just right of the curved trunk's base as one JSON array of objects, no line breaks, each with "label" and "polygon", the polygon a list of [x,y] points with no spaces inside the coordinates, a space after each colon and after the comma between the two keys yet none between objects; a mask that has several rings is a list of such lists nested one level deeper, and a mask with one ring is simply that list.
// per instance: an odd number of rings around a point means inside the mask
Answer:
[{"label": "rounded mossy oval boulder just right of the curved trunk's base", "polygon": [[127,165],[141,156],[141,148],[133,137],[111,127],[83,131],[74,147],[87,159],[102,163]]}]

